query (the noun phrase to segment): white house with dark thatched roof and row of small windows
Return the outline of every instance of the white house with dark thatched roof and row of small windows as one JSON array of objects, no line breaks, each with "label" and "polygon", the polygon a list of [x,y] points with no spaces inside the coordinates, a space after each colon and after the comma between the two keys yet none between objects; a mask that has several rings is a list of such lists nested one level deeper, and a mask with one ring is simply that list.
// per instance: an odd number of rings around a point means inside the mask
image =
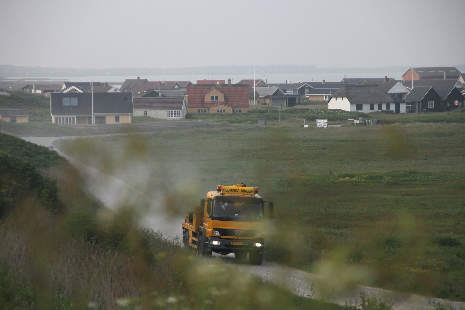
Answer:
[{"label": "white house with dark thatched roof and row of small windows", "polygon": [[393,97],[377,85],[344,85],[330,98],[328,109],[405,113],[405,100]]}]

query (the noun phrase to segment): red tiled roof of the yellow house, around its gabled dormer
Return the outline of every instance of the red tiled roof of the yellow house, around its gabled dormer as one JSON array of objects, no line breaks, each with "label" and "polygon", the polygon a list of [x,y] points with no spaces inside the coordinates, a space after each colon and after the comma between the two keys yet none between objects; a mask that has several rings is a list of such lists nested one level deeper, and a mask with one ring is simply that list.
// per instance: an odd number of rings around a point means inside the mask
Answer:
[{"label": "red tiled roof of the yellow house, around its gabled dormer", "polygon": [[[213,86],[224,93],[224,103],[233,107],[249,106],[249,86]],[[205,93],[211,90],[212,85],[187,86],[188,107],[208,107],[218,102],[205,102]]]}]

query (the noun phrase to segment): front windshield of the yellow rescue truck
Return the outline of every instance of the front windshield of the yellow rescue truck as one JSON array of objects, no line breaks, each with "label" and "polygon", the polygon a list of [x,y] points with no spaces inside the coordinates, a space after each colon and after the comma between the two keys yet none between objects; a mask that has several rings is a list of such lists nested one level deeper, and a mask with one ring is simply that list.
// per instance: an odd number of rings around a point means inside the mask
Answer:
[{"label": "front windshield of the yellow rescue truck", "polygon": [[253,221],[262,218],[262,198],[215,196],[213,200],[213,220]]}]

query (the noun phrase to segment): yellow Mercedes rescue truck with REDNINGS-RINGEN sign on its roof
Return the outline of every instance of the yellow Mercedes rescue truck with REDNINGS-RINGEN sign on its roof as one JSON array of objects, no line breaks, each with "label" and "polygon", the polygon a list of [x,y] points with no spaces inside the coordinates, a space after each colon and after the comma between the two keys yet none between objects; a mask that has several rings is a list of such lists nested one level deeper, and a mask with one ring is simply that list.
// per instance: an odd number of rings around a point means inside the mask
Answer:
[{"label": "yellow Mercedes rescue truck with REDNINGS-RINGEN sign on its roof", "polygon": [[236,259],[246,259],[248,253],[250,264],[261,264],[265,203],[269,204],[268,216],[272,219],[274,206],[259,196],[258,187],[218,185],[194,211],[187,211],[182,222],[184,246],[197,249],[202,256],[234,253]]}]

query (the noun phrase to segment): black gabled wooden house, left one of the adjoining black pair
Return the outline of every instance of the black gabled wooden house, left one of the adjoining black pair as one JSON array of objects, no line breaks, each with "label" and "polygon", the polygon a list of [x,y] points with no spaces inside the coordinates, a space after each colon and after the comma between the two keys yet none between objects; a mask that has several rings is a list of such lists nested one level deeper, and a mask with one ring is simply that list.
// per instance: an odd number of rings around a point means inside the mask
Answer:
[{"label": "black gabled wooden house, left one of the adjoining black pair", "polygon": [[415,86],[405,97],[405,113],[438,112],[441,96],[432,86]]}]

